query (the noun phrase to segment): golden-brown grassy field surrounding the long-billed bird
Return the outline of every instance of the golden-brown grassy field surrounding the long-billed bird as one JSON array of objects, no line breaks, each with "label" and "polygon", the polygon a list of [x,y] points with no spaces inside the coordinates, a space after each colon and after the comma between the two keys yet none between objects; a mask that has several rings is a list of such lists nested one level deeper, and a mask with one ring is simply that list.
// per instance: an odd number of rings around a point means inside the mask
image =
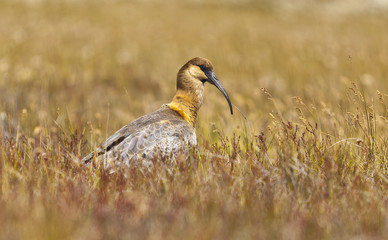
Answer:
[{"label": "golden-brown grassy field surrounding the long-billed bird", "polygon": [[[388,236],[386,12],[29,2],[0,2],[0,239]],[[79,165],[196,56],[235,114],[206,85],[188,160]]]}]

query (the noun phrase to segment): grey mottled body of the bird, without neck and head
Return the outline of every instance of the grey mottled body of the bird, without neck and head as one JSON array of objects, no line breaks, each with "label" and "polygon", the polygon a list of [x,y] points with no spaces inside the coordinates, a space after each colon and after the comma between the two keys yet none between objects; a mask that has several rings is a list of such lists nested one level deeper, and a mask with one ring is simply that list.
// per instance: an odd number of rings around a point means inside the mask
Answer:
[{"label": "grey mottled body of the bird, without neck and head", "polygon": [[187,146],[195,146],[195,129],[181,115],[163,105],[159,110],[125,125],[109,137],[96,151],[82,159],[93,158],[105,165],[130,164],[150,159],[154,154],[173,158]]}]

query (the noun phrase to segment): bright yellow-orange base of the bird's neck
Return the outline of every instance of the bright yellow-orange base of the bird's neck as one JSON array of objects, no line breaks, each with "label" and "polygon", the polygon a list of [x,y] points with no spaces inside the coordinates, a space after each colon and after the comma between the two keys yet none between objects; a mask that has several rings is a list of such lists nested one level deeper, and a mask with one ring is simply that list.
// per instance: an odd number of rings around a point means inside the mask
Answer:
[{"label": "bright yellow-orange base of the bird's neck", "polygon": [[179,113],[179,115],[181,115],[182,118],[191,126],[195,127],[195,122],[197,120],[197,112],[200,107],[195,97],[178,90],[172,101],[168,104],[168,106],[172,110]]}]

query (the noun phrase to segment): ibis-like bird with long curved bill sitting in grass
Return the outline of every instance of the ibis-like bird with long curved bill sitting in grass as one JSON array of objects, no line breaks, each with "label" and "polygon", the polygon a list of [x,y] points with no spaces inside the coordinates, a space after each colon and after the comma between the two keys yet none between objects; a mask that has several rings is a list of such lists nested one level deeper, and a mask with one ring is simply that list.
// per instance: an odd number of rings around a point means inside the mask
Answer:
[{"label": "ibis-like bird with long curved bill sitting in grass", "polygon": [[170,103],[123,126],[85,156],[81,163],[88,164],[96,159],[105,167],[111,167],[143,160],[143,165],[147,165],[144,163],[149,164],[155,154],[175,159],[179,153],[187,152],[197,145],[195,125],[206,82],[216,86],[224,95],[233,115],[228,93],[215,75],[212,63],[195,57],[178,71],[176,93]]}]

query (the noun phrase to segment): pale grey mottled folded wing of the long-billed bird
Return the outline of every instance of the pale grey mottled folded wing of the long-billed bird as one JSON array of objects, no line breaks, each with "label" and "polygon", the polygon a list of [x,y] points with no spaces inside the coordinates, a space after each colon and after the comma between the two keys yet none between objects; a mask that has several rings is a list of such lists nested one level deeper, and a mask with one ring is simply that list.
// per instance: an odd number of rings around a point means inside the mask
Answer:
[{"label": "pale grey mottled folded wing of the long-billed bird", "polygon": [[108,165],[115,161],[149,159],[155,152],[169,157],[187,145],[196,145],[195,130],[183,121],[160,121],[138,129],[105,154]]}]

